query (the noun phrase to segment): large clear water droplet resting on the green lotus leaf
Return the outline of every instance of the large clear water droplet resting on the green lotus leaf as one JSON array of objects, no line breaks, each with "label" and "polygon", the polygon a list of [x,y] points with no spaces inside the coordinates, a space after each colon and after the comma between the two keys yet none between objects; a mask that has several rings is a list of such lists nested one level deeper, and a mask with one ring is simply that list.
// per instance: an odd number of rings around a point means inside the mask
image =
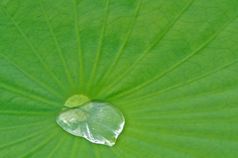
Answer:
[{"label": "large clear water droplet resting on the green lotus leaf", "polygon": [[56,122],[70,134],[92,143],[113,146],[123,130],[125,119],[114,105],[89,101],[80,107],[61,111]]}]

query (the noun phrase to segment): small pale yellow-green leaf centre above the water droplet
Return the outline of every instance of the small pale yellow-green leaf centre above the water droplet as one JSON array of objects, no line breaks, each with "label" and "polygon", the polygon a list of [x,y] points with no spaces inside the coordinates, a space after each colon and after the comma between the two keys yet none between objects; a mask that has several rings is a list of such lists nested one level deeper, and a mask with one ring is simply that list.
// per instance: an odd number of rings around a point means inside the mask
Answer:
[{"label": "small pale yellow-green leaf centre above the water droplet", "polygon": [[72,107],[83,105],[84,103],[88,101],[89,101],[88,97],[81,94],[76,94],[70,97],[69,99],[67,99],[64,105],[69,108],[72,108]]}]

